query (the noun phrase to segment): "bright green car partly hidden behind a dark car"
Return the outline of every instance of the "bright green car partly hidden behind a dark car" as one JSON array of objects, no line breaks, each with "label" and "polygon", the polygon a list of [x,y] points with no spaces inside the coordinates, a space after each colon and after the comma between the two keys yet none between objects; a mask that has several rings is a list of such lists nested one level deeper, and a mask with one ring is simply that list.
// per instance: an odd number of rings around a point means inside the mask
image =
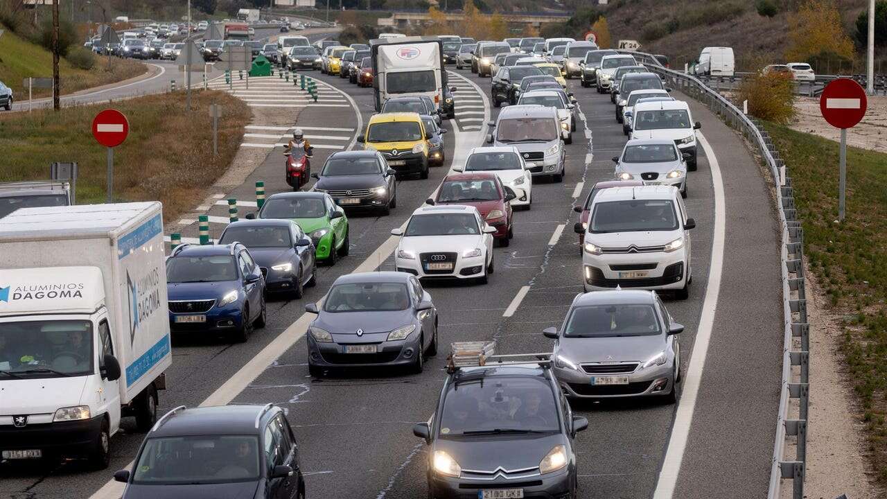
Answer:
[{"label": "bright green car partly hidden behind a dark car", "polygon": [[348,255],[348,217],[329,194],[273,194],[265,200],[258,218],[287,218],[299,224],[314,242],[318,261],[334,265],[338,257]]}]

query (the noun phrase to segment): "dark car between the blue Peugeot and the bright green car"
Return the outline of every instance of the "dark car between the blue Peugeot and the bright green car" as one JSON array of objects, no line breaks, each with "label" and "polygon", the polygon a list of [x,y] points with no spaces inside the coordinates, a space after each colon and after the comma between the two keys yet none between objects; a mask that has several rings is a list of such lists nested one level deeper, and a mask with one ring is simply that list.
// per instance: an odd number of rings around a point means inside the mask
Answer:
[{"label": "dark car between the blue Peugeot and the bright green car", "polygon": [[318,283],[314,244],[294,221],[268,218],[233,222],[225,227],[219,244],[235,241],[249,249],[269,292],[301,298],[306,286]]}]

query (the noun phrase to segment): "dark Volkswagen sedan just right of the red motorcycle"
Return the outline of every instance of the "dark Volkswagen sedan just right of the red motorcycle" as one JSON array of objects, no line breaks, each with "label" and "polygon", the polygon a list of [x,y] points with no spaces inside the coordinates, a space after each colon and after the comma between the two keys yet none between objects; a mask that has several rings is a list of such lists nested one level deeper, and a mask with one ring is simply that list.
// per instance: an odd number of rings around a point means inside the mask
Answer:
[{"label": "dark Volkswagen sedan just right of the red motorcycle", "polygon": [[340,151],[326,158],[313,189],[342,208],[369,208],[388,215],[397,206],[395,170],[377,151]]}]

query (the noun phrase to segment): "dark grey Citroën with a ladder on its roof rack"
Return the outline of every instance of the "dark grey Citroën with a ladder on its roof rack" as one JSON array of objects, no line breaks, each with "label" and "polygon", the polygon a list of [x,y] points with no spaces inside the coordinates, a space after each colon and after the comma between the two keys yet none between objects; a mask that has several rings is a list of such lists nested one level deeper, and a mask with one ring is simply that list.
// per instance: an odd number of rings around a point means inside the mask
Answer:
[{"label": "dark grey Citro\u00ebn with a ladder on its roof rack", "polygon": [[573,440],[588,420],[572,415],[550,360],[506,361],[492,345],[452,345],[435,413],[413,426],[428,443],[428,497],[577,497]]}]

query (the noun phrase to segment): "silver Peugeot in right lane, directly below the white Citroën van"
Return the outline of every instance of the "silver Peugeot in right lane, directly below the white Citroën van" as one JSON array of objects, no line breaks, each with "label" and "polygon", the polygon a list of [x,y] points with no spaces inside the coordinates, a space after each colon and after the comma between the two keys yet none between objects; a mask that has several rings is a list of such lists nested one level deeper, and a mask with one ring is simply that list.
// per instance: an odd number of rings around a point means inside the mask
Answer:
[{"label": "silver Peugeot in right lane, directly below the white Citro\u00ebn van", "polygon": [[569,398],[662,397],[679,394],[684,326],[655,291],[615,289],[577,295],[554,344],[554,376]]}]

